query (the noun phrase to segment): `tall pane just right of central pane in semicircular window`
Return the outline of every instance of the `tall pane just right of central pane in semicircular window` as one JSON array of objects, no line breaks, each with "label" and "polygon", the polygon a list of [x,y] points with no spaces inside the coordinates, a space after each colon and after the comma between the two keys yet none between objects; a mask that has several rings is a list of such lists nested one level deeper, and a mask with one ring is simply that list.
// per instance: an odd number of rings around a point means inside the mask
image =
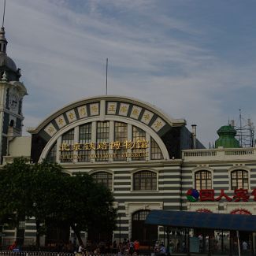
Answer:
[{"label": "tall pane just right of central pane in semicircular window", "polygon": [[[115,122],[115,133],[114,140],[115,142],[124,143],[127,140],[127,124]],[[114,161],[126,161],[126,158],[122,158],[122,154],[126,149],[124,147],[120,147],[119,150],[113,150],[114,153],[117,153],[117,158],[114,158]]]}]

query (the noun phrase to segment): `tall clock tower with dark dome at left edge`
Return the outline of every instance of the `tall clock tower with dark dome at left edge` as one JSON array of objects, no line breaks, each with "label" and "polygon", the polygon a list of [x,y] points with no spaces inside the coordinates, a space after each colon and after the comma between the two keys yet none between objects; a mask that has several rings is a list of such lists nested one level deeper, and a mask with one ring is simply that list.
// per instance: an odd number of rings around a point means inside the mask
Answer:
[{"label": "tall clock tower with dark dome at left edge", "polygon": [[26,87],[20,83],[20,69],[6,54],[5,28],[0,30],[0,165],[2,157],[8,155],[9,141],[22,134],[22,101],[27,95]]}]

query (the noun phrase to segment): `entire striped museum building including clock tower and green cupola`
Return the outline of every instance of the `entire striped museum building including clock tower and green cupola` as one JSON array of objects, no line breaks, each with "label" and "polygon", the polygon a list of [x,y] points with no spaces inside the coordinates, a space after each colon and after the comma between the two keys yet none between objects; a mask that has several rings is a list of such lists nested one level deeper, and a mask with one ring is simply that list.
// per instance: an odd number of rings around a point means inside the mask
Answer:
[{"label": "entire striped museum building including clock tower and green cupola", "polygon": [[[206,149],[197,139],[196,125],[190,132],[184,119],[169,117],[150,103],[102,95],[63,106],[30,128],[31,136],[22,136],[27,91],[6,45],[2,28],[1,165],[24,156],[32,163],[58,162],[70,175],[89,173],[113,191],[117,241],[162,239],[161,227],[144,224],[150,210],[256,214],[256,151],[239,147],[231,125],[218,130],[215,148]],[[20,223],[20,230],[3,230],[3,243],[17,236],[35,243],[33,219]],[[54,241],[50,234],[43,239],[42,244]]]}]

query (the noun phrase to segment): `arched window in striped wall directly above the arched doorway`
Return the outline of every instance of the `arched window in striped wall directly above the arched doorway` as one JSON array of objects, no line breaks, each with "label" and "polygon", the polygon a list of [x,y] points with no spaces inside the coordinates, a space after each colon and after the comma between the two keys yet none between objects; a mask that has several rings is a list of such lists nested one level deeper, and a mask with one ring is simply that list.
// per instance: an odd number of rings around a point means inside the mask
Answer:
[{"label": "arched window in striped wall directly above the arched doorway", "polygon": [[157,173],[140,171],[133,175],[133,190],[154,191],[157,190]]}]

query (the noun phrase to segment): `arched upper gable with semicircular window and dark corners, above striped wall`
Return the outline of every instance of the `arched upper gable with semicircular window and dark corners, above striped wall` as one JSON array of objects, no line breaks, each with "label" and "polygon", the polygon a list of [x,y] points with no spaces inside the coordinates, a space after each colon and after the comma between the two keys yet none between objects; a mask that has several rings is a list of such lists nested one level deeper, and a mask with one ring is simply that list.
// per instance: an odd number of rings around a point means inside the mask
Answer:
[{"label": "arched upper gable with semicircular window and dark corners, above striped wall", "polygon": [[[123,150],[124,147],[129,149],[127,158],[132,160],[178,158],[181,147],[191,145],[190,139],[184,139],[189,137],[184,125],[184,120],[174,120],[154,106],[132,98],[113,96],[87,98],[65,106],[46,118],[37,128],[29,131],[32,133],[32,147],[35,146],[32,160],[49,158],[49,151],[54,148],[55,143],[57,149],[63,144],[69,145],[62,147],[62,151],[69,151],[65,152],[67,154],[61,154],[61,156],[66,155],[63,157],[66,158],[65,160],[60,158],[59,150],[56,152],[57,161],[62,159],[65,162],[76,162],[79,159],[91,161],[92,154],[102,154],[102,150],[106,150],[104,145],[102,148],[99,143],[108,143],[108,146],[111,143],[108,152],[110,157],[105,159],[109,161],[122,161],[123,159],[115,153],[116,150]],[[179,135],[179,140],[176,135]],[[131,143],[144,141],[147,145],[145,143],[135,145],[134,148],[132,145],[124,145],[125,141]],[[121,145],[118,146],[118,142]],[[172,148],[169,147],[169,143],[173,144]],[[77,146],[78,144],[80,146]],[[80,152],[89,148],[91,149],[89,156]],[[141,148],[147,148],[145,156],[139,154]]]}]

